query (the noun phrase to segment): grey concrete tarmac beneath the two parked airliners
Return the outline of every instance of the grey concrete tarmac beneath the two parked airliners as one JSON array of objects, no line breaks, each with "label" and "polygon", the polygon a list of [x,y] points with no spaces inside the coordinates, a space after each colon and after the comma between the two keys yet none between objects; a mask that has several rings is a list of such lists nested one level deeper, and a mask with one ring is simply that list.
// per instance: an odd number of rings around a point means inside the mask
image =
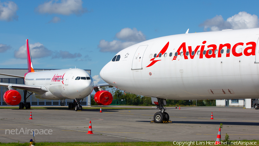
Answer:
[{"label": "grey concrete tarmac beneath the two parked airliners", "polygon": [[[99,113],[99,109],[76,112],[66,107],[59,110],[0,109],[0,142],[29,142],[33,138],[32,131],[35,131],[36,142],[215,141],[220,123],[223,123],[222,140],[226,133],[230,140],[259,139],[259,110],[255,109],[167,107],[172,123],[159,124],[150,123],[158,112],[150,106],[109,107],[150,109],[102,109],[103,113]],[[28,120],[30,112],[33,120]],[[90,120],[94,134],[86,134]]]}]

